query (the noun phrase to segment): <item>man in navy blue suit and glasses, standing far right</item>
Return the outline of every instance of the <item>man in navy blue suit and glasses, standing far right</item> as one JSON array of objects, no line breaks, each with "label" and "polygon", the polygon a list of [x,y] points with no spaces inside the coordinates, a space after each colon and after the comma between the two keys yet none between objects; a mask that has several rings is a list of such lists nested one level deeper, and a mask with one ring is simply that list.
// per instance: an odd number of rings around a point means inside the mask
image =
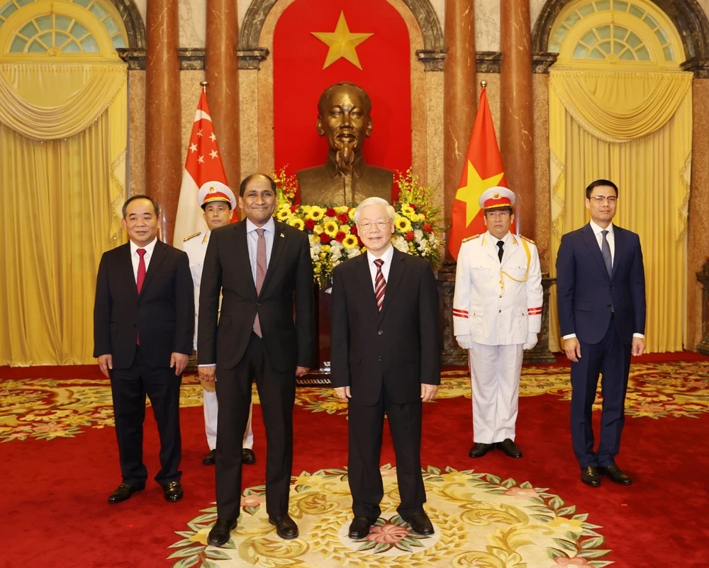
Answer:
[{"label": "man in navy blue suit and glasses, standing far right", "polygon": [[[586,188],[591,222],[562,237],[557,255],[559,324],[571,360],[571,441],[581,481],[601,484],[599,474],[632,483],[618,465],[625,422],[630,355],[645,350],[645,276],[640,237],[611,222],[618,187],[599,179]],[[593,451],[591,407],[603,375],[601,441]]]}]

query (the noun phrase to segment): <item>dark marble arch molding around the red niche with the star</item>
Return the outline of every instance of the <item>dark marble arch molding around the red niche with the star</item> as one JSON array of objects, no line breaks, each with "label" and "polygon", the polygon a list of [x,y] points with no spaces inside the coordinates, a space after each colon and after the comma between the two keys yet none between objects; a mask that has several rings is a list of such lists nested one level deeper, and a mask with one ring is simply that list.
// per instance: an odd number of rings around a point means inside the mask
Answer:
[{"label": "dark marble arch molding around the red niche with the star", "polygon": [[[259,64],[267,57],[268,50],[259,46],[259,41],[268,13],[277,1],[254,0],[249,5],[241,24],[238,52],[239,54],[257,52],[257,55],[239,55],[240,69],[258,69]],[[417,52],[418,59],[423,62],[426,71],[442,71],[443,59],[445,59],[443,30],[433,6],[429,0],[403,0],[403,2],[413,13],[423,35],[423,50]]]}]

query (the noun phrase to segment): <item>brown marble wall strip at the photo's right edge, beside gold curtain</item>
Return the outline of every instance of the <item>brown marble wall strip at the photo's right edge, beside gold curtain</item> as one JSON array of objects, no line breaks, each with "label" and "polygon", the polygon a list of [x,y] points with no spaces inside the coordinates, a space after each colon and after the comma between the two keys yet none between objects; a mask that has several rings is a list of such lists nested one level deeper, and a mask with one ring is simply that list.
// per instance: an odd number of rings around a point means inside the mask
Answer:
[{"label": "brown marble wall strip at the photo's right edge, beside gold curtain", "polygon": [[702,339],[702,285],[697,273],[709,259],[709,79],[694,79],[692,88],[692,182],[687,242],[687,340],[696,349]]}]

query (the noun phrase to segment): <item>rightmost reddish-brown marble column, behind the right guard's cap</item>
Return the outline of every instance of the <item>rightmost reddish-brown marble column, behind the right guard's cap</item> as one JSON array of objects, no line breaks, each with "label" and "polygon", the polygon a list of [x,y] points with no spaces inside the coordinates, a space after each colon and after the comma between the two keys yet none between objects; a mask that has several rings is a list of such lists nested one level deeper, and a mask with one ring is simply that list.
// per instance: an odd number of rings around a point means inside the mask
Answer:
[{"label": "rightmost reddish-brown marble column, behind the right guard's cap", "polygon": [[515,226],[535,238],[534,115],[530,0],[500,3],[500,152],[508,186],[517,194]]}]

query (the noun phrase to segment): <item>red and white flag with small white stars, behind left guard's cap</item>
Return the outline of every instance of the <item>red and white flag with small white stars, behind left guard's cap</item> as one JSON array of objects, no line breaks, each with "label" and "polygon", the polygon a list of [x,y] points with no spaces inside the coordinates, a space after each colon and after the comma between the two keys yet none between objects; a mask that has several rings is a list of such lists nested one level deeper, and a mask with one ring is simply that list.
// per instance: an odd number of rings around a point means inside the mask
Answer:
[{"label": "red and white flag with small white stars, behind left guard's cap", "polygon": [[[177,202],[177,218],[172,242],[182,248],[185,237],[203,231],[206,225],[203,210],[197,203],[199,188],[209,181],[226,181],[224,164],[221,161],[217,137],[214,134],[212,118],[207,106],[207,91],[202,89],[197,111],[194,115],[194,125],[187,145],[187,157],[182,172],[182,186]],[[231,212],[231,220],[237,220],[236,210]]]}]

